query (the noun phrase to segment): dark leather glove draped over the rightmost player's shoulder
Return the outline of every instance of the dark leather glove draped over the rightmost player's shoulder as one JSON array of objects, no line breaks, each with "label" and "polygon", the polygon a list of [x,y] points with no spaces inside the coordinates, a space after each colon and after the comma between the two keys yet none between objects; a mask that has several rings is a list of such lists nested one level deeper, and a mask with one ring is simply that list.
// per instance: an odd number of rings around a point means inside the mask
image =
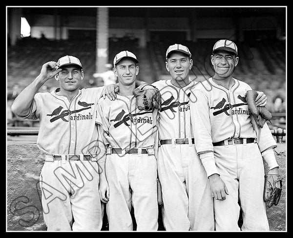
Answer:
[{"label": "dark leather glove draped over the rightmost player's shoulder", "polygon": [[263,128],[265,122],[272,119],[272,114],[266,107],[256,106],[255,99],[257,94],[258,93],[254,90],[247,91],[246,102],[251,112],[252,125],[254,127],[257,126],[257,128]]}]

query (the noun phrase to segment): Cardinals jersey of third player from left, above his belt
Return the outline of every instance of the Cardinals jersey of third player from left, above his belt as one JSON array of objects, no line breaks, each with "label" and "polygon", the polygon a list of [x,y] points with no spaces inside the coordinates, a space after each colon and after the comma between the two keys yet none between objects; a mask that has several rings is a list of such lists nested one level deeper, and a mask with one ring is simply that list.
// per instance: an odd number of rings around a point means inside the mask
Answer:
[{"label": "Cardinals jersey of third player from left, above his belt", "polygon": [[160,90],[162,96],[162,108],[159,111],[160,139],[192,138],[189,96],[195,82],[180,88],[172,85],[171,80],[160,80],[152,85]]}]

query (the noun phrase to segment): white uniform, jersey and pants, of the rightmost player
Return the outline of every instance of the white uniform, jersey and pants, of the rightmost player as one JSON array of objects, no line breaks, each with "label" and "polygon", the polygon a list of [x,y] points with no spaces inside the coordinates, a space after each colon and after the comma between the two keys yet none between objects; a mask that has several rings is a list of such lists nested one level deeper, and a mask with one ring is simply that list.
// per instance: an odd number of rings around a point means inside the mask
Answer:
[{"label": "white uniform, jersey and pants, of the rightmost player", "polygon": [[[194,88],[190,104],[195,147],[198,154],[213,152],[217,173],[225,182],[226,200],[214,200],[216,230],[240,230],[238,218],[243,210],[242,230],[268,230],[264,191],[264,165],[261,152],[276,147],[265,123],[258,137],[252,128],[245,99],[251,87],[233,79],[230,88],[209,78]],[[228,139],[231,140],[229,144]],[[243,140],[243,141],[242,141]],[[221,143],[223,143],[221,145]],[[209,173],[209,168],[207,166]]]}]

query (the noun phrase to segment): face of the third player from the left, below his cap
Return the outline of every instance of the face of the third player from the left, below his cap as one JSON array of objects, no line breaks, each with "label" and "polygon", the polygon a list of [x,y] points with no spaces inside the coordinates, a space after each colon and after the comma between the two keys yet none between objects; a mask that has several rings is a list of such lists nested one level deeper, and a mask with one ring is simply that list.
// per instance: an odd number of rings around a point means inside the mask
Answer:
[{"label": "face of the third player from the left, below his cap", "polygon": [[166,69],[170,73],[172,80],[188,84],[188,74],[192,68],[193,61],[189,59],[188,55],[180,52],[171,53],[167,58]]}]

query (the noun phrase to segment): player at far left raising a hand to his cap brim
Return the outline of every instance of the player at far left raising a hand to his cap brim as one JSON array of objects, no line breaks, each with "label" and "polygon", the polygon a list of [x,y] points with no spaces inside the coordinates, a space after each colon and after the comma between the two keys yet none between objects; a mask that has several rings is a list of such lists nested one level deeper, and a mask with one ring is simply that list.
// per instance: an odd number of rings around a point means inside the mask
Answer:
[{"label": "player at far left raising a hand to his cap brim", "polygon": [[[60,87],[38,92],[54,77]],[[105,151],[98,141],[96,109],[104,87],[79,89],[83,79],[82,64],[74,56],[45,63],[11,107],[19,117],[40,119],[37,145],[45,154],[40,187],[48,231],[102,228],[99,180],[105,171],[99,167],[105,164]]]}]

